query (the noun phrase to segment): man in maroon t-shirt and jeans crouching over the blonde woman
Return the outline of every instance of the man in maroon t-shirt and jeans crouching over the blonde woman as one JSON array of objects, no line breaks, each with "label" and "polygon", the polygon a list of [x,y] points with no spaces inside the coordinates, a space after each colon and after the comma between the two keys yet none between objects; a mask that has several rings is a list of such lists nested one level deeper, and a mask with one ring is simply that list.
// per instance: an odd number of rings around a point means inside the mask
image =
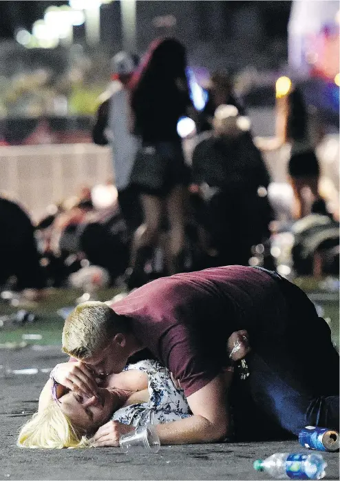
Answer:
[{"label": "man in maroon t-shirt and jeans crouching over the blonde woman", "polygon": [[[252,429],[256,437],[254,424],[243,422],[241,430],[237,424],[260,411],[262,422],[295,435],[307,424],[339,428],[339,356],[328,325],[301,289],[253,267],[176,274],[111,306],[78,305],[65,320],[63,351],[83,362],[86,376],[65,368],[56,381],[91,390],[89,369],[118,373],[129,356],[146,347],[179,380],[193,413],[157,427],[162,444],[219,441],[231,431],[224,369],[231,362],[226,352],[237,354],[239,347],[230,345],[234,331],[246,333],[245,352],[248,340],[252,347],[246,356],[250,375],[240,382],[234,376],[230,389],[236,431]],[[125,431],[110,421],[96,443],[118,446]]]}]

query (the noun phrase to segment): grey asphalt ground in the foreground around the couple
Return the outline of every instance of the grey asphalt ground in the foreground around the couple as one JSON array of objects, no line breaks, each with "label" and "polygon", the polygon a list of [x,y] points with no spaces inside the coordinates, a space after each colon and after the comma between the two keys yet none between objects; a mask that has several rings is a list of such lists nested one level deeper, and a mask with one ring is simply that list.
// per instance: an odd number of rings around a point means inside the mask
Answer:
[{"label": "grey asphalt ground in the foreground around the couple", "polygon": [[[268,480],[254,471],[255,459],[307,451],[297,441],[164,446],[134,456],[118,448],[18,448],[17,433],[36,411],[49,369],[66,359],[59,346],[0,349],[1,480]],[[339,480],[339,453],[323,456],[325,479]]]}]

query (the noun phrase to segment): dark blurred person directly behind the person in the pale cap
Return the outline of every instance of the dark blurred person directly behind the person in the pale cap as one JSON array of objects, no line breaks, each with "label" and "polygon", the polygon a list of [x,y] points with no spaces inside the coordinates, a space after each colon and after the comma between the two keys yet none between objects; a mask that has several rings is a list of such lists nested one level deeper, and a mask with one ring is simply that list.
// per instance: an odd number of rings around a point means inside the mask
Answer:
[{"label": "dark blurred person directly behind the person in the pale cap", "polygon": [[231,77],[224,72],[214,72],[211,75],[209,83],[208,100],[202,112],[199,114],[199,130],[205,132],[213,129],[213,116],[215,110],[220,105],[234,105],[240,115],[246,115],[246,112],[240,101],[233,94],[233,83]]}]

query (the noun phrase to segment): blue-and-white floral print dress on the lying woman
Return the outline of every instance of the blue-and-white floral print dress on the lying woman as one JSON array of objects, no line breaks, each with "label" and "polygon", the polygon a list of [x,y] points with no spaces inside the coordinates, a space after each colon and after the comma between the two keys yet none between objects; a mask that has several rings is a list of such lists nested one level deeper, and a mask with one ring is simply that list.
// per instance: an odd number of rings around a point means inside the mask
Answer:
[{"label": "blue-and-white floral print dress on the lying woman", "polygon": [[164,424],[191,416],[191,411],[182,389],[178,389],[171,380],[166,367],[155,360],[142,360],[125,367],[125,371],[138,369],[147,373],[150,399],[118,409],[112,420],[143,426],[144,424]]}]

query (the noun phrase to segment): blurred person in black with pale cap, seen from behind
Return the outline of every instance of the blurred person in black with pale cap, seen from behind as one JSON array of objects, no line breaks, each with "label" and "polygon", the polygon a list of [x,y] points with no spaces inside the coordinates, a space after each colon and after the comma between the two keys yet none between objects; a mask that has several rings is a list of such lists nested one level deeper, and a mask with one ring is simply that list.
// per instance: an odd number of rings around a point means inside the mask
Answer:
[{"label": "blurred person in black with pale cap, seen from behind", "polygon": [[234,105],[220,105],[213,132],[193,151],[191,191],[205,201],[201,220],[213,265],[248,265],[252,245],[269,236],[270,179],[249,127]]}]

